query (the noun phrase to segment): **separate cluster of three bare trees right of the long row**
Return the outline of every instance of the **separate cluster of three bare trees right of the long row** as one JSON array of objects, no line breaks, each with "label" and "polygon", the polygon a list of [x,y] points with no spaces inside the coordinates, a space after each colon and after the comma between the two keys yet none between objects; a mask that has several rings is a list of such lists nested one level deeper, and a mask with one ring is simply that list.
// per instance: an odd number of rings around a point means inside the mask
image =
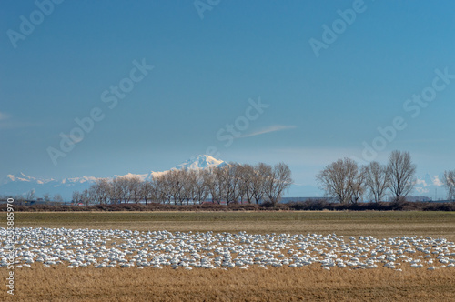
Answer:
[{"label": "separate cluster of three bare trees right of the long row", "polygon": [[415,185],[416,165],[409,152],[393,151],[387,165],[370,162],[359,166],[350,158],[339,159],[316,176],[326,195],[342,204],[357,203],[364,196],[384,201],[387,192],[394,200],[403,200]]}]

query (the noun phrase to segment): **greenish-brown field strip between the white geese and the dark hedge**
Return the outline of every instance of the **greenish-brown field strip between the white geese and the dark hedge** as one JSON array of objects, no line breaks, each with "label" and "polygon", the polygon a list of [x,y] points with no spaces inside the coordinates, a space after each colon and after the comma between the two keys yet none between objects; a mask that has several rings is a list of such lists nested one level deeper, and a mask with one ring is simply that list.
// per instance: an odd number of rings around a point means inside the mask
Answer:
[{"label": "greenish-brown field strip between the white geese and the dark hedge", "polygon": [[455,241],[455,212],[16,212],[15,227],[430,236]]}]

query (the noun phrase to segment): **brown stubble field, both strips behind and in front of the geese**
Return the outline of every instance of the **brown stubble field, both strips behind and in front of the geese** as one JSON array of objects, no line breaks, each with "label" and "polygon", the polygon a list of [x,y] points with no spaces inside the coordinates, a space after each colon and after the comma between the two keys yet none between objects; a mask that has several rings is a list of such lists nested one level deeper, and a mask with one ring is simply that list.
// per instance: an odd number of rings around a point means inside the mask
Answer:
[{"label": "brown stubble field, both strips behind and in front of the geese", "polygon": [[[2,221],[5,224],[5,221]],[[430,236],[455,241],[453,212],[15,213],[15,227]],[[5,280],[7,271],[0,269]],[[455,301],[455,270],[252,267],[15,270],[17,301]],[[8,295],[9,296],[9,295]],[[0,300],[7,300],[5,287]]]}]

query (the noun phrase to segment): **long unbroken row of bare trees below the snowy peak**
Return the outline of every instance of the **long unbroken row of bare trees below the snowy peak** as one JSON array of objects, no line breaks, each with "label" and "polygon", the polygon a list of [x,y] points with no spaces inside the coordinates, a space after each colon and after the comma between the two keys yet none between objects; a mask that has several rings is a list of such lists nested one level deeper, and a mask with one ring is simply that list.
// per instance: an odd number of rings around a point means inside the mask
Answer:
[{"label": "long unbroken row of bare trees below the snowy peak", "polygon": [[88,204],[200,204],[257,203],[268,199],[277,204],[292,183],[288,165],[269,166],[229,164],[201,170],[170,170],[151,180],[138,176],[100,178],[83,192],[74,192],[73,201]]}]

